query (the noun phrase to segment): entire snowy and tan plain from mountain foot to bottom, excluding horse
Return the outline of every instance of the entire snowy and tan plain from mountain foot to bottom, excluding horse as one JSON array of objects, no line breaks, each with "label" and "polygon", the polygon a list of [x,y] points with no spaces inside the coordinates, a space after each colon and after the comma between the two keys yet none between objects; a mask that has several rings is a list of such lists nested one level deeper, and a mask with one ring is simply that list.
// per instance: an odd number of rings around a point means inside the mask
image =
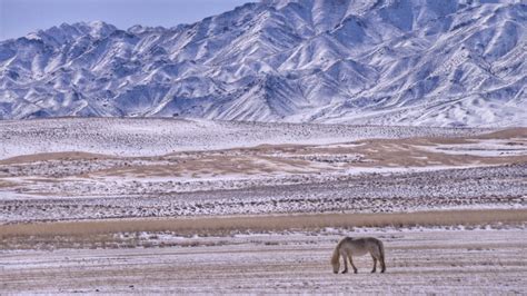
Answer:
[{"label": "entire snowy and tan plain from mountain foot to bottom, excluding horse", "polygon": [[[0,138],[8,294],[526,293],[525,128],[59,118],[0,121]],[[384,221],[275,223],[299,215]],[[203,226],[168,230],[185,219]],[[365,256],[334,275],[346,235],[385,241],[388,272]]]}]

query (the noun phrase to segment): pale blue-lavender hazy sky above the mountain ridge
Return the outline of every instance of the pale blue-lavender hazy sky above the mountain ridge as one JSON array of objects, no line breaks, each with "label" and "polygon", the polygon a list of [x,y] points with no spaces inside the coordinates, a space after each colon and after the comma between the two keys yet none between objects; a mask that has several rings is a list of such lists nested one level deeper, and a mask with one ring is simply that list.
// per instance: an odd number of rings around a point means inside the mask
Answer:
[{"label": "pale blue-lavender hazy sky above the mountain ridge", "polygon": [[120,29],[133,24],[173,27],[257,0],[0,0],[0,40],[62,22],[102,20]]}]

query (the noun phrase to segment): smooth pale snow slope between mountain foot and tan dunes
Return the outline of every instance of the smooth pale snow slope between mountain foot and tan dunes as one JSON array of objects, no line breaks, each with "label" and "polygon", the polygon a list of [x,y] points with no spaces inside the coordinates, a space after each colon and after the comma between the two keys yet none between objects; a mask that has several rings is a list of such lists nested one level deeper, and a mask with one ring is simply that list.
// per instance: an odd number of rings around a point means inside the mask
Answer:
[{"label": "smooth pale snow slope between mountain foot and tan dunes", "polygon": [[370,138],[469,136],[493,129],[265,124],[202,119],[53,118],[0,121],[0,159],[82,151],[159,156],[279,144],[336,144]]}]

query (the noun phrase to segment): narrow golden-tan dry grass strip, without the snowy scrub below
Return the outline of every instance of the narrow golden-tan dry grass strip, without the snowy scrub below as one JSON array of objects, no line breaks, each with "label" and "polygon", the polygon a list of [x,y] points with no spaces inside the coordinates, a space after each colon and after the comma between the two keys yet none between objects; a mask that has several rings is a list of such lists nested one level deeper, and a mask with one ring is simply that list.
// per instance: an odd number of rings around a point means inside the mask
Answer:
[{"label": "narrow golden-tan dry grass strip, without the snowy scrub below", "polygon": [[0,226],[12,236],[87,236],[138,231],[221,235],[231,231],[282,231],[322,227],[412,227],[527,221],[526,209],[448,210],[390,214],[317,214],[198,218],[145,218],[14,224]]}]

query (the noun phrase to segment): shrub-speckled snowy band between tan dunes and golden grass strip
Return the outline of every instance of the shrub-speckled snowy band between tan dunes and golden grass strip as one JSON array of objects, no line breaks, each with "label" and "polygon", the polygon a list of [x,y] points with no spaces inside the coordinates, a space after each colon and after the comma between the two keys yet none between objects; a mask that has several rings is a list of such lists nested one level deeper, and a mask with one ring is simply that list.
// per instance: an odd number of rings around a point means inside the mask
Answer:
[{"label": "shrub-speckled snowy band between tan dunes and golden grass strip", "polygon": [[[131,195],[37,196],[0,203],[2,223],[178,217],[274,213],[391,213],[456,208],[527,208],[527,166],[500,166],[412,174],[290,177],[290,182],[243,184],[239,189],[175,193],[166,184]],[[286,179],[287,180],[287,179]],[[93,188],[96,190],[96,188]]]}]

